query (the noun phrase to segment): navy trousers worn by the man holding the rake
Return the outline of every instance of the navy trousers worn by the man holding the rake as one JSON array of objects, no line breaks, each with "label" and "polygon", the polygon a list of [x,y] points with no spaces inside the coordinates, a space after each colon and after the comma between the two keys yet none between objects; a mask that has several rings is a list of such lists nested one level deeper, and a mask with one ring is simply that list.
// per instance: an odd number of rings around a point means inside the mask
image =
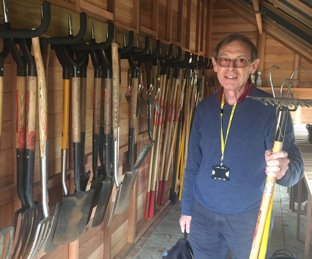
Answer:
[{"label": "navy trousers worn by the man holding the rake", "polygon": [[[194,258],[227,259],[230,250],[232,259],[248,259],[259,208],[241,214],[224,214],[209,210],[194,198],[189,235]],[[266,258],[270,254],[272,227],[273,213]]]}]

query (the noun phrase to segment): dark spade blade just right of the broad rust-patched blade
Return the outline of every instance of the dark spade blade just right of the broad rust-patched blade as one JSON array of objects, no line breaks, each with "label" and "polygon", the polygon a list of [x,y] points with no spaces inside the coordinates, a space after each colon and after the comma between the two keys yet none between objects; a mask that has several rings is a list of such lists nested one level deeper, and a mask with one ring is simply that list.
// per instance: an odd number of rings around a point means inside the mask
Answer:
[{"label": "dark spade blade just right of the broad rust-patched blade", "polygon": [[93,217],[92,227],[100,226],[100,224],[104,221],[113,187],[114,181],[111,177],[108,177],[105,181],[103,181],[99,202]]}]

